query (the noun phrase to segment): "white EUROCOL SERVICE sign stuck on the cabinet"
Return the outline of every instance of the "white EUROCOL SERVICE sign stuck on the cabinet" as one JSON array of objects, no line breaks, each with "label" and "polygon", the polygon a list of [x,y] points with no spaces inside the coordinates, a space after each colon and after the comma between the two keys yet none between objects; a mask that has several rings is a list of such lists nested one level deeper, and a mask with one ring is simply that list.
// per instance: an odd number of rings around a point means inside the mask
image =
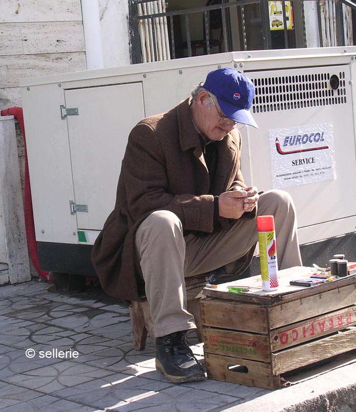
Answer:
[{"label": "white EUROCOL SERVICE sign stuck on the cabinet", "polygon": [[269,130],[274,189],[336,179],[332,123]]}]

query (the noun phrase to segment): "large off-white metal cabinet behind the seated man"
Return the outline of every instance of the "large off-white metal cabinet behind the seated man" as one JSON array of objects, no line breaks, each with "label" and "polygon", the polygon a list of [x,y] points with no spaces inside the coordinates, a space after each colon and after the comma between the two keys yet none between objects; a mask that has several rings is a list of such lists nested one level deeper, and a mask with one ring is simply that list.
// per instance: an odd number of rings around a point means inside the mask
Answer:
[{"label": "large off-white metal cabinet behind the seated man", "polygon": [[[269,190],[273,188],[269,131],[332,124],[337,178],[285,190],[296,204],[302,244],[353,233],[355,55],[356,47],[232,52],[20,81],[37,241],[92,244],[113,209],[131,128],[144,116],[168,110],[185,99],[218,67],[236,68],[254,81],[281,78],[282,83],[287,78],[289,82],[289,77],[295,79],[291,83],[305,83],[309,75],[342,73],[341,103],[286,104],[277,110],[265,105],[264,110],[263,98],[262,104],[256,100],[252,111],[259,129],[241,129],[241,169],[247,184]],[[280,98],[276,96],[276,101]],[[61,119],[61,105],[77,108],[78,115]],[[87,205],[88,212],[70,213],[70,201]],[[85,240],[80,238],[84,232]],[[58,256],[65,259],[68,252]]]}]

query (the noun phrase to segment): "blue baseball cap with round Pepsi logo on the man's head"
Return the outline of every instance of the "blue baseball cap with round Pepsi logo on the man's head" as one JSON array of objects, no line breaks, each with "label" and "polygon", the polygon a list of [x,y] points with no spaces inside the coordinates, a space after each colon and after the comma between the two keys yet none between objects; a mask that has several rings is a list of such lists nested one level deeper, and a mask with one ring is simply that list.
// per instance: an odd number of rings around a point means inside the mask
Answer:
[{"label": "blue baseball cap with round Pepsi logo on the man's head", "polygon": [[243,73],[233,68],[218,68],[208,73],[203,87],[216,96],[226,117],[258,128],[249,112],[255,97],[255,86]]}]

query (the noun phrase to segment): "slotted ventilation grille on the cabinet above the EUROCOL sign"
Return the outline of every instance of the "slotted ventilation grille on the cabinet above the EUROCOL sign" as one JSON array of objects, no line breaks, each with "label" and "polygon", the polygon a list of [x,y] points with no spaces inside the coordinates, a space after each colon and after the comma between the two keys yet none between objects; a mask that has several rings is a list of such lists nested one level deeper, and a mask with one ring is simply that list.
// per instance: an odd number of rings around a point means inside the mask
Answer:
[{"label": "slotted ventilation grille on the cabinet above the EUROCOL sign", "polygon": [[253,82],[254,113],[346,103],[345,72],[263,77]]}]

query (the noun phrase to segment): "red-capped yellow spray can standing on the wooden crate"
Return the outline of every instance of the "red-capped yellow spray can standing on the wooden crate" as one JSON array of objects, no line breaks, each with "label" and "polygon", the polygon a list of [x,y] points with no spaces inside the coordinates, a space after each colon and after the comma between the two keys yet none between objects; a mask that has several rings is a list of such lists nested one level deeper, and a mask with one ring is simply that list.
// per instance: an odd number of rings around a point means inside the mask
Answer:
[{"label": "red-capped yellow spray can standing on the wooden crate", "polygon": [[278,288],[278,261],[276,247],[275,219],[272,215],[257,217],[258,241],[260,245],[260,266],[262,289]]}]

